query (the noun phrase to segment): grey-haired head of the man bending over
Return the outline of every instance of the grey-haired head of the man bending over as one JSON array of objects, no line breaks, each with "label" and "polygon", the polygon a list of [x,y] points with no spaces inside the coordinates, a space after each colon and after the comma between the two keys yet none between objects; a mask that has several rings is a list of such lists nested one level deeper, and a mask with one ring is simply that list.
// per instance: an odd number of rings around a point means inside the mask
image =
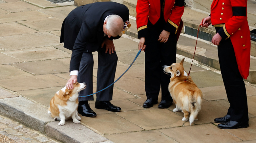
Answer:
[{"label": "grey-haired head of the man bending over", "polygon": [[[118,22],[119,20],[119,22]],[[117,36],[119,35],[123,30],[123,19],[115,14],[109,15],[106,19],[107,24],[106,28],[110,32],[111,36]],[[121,21],[121,23],[120,23]]]}]

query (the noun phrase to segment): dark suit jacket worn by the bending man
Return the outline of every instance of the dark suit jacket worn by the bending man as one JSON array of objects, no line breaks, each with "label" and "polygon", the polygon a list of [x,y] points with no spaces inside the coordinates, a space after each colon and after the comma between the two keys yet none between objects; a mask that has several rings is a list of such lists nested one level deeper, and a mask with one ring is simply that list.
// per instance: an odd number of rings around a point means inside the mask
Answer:
[{"label": "dark suit jacket worn by the bending man", "polygon": [[[63,21],[60,43],[72,50],[70,71],[79,70],[83,52],[94,52],[104,40],[103,23],[107,16],[116,14],[129,20],[129,10],[116,2],[96,2],[72,10]],[[111,37],[118,39],[118,37]]]}]

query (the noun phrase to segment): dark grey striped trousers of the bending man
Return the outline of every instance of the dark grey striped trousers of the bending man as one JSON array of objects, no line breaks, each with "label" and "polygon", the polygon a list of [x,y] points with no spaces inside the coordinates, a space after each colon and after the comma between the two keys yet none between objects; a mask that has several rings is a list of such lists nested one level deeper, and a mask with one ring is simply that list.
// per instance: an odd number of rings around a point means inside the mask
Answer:
[{"label": "dark grey striped trousers of the bending man", "polygon": [[[99,48],[98,52],[98,71],[97,71],[97,88],[96,90],[99,91],[110,84],[112,84],[115,80],[115,73],[117,68],[117,53],[114,52],[113,54],[105,53],[105,48]],[[93,93],[93,54],[83,53],[77,81],[85,82],[87,84],[86,88],[79,92],[79,96],[85,96]],[[98,101],[111,101],[113,96],[113,87],[114,85],[110,86],[109,88],[99,92],[96,94],[96,100]],[[93,95],[88,97],[81,97],[78,98],[79,101],[85,100],[94,100]]]}]

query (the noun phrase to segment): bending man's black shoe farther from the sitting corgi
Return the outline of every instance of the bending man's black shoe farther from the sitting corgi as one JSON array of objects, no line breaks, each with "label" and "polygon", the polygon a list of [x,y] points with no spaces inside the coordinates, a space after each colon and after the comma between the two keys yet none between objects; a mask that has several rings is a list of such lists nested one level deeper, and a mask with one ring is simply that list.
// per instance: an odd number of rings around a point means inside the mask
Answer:
[{"label": "bending man's black shoe farther from the sitting corgi", "polygon": [[106,110],[112,111],[112,112],[119,112],[122,110],[120,107],[113,105],[109,101],[97,101],[97,100],[95,102],[95,108],[106,109]]}]

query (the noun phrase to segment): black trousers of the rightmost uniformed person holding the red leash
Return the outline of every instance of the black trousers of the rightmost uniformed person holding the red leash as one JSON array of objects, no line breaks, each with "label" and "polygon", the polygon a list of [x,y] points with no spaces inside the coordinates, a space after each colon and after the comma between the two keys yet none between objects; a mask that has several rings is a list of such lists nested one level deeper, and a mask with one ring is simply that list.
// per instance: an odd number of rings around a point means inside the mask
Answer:
[{"label": "black trousers of the rightmost uniformed person holding the red leash", "polygon": [[230,103],[227,114],[233,121],[246,122],[248,121],[248,106],[245,82],[238,70],[230,38],[221,40],[218,46],[218,56],[227,99]]}]

